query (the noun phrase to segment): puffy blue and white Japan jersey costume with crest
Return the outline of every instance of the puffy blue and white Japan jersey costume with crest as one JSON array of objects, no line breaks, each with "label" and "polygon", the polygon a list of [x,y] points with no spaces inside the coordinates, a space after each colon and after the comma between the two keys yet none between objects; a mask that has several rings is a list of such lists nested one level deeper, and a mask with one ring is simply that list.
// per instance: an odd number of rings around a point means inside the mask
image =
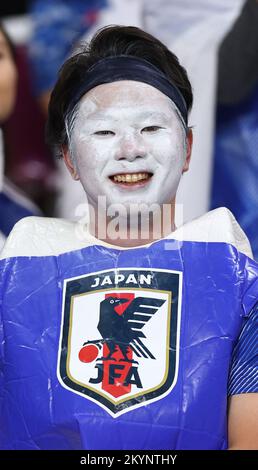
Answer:
[{"label": "puffy blue and white Japan jersey costume with crest", "polygon": [[1,258],[0,448],[227,448],[258,281],[226,209],[130,249],[30,217]]}]

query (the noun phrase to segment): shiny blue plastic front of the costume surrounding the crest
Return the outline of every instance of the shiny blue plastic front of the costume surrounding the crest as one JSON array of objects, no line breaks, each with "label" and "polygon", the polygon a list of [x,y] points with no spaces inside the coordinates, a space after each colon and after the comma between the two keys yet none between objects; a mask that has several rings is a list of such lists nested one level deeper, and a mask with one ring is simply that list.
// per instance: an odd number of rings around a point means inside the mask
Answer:
[{"label": "shiny blue plastic front of the costume surrounding the crest", "polygon": [[[257,301],[257,265],[225,243],[167,244],[0,262],[2,449],[227,448],[230,361]],[[114,418],[63,386],[58,349],[64,281],[125,268],[182,273],[179,368],[168,394]]]}]

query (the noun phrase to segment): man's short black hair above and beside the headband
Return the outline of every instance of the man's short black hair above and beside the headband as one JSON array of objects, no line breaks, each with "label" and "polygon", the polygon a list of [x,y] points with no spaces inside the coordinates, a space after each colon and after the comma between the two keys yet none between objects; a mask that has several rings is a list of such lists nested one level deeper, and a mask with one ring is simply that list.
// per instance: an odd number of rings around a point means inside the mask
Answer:
[{"label": "man's short black hair above and beside the headband", "polygon": [[192,87],[178,58],[162,42],[134,26],[106,26],[96,32],[92,40],[82,45],[61,67],[52,91],[46,139],[60,154],[62,145],[68,144],[65,120],[67,109],[77,84],[87,70],[100,59],[130,55],[145,59],[161,70],[183,95],[187,110],[193,102]]}]

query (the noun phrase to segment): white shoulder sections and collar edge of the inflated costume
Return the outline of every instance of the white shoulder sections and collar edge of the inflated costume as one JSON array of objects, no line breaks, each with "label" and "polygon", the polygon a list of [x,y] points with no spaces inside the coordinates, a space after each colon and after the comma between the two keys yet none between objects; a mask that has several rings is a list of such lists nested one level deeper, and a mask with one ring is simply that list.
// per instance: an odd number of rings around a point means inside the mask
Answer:
[{"label": "white shoulder sections and collar edge of the inflated costume", "polygon": [[[112,246],[96,239],[87,230],[82,232],[81,228],[80,222],[45,217],[26,217],[14,226],[0,259],[14,256],[57,256],[92,244],[119,249],[118,246]],[[166,239],[229,243],[242,253],[252,257],[246,235],[231,212],[223,207],[189,222]],[[134,248],[121,247],[121,249]]]}]

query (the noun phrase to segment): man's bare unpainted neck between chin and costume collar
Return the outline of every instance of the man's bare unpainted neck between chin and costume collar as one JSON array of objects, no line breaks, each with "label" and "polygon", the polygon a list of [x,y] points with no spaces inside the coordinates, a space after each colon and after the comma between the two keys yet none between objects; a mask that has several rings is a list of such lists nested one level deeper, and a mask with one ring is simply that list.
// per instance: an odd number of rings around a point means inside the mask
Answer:
[{"label": "man's bare unpainted neck between chin and costume collar", "polygon": [[[133,220],[132,220],[133,219]],[[103,221],[105,222],[103,224]],[[159,213],[138,214],[134,217],[109,217],[97,214],[90,218],[91,235],[110,245],[125,248],[147,245],[167,237],[175,230],[175,201],[160,207]]]}]

